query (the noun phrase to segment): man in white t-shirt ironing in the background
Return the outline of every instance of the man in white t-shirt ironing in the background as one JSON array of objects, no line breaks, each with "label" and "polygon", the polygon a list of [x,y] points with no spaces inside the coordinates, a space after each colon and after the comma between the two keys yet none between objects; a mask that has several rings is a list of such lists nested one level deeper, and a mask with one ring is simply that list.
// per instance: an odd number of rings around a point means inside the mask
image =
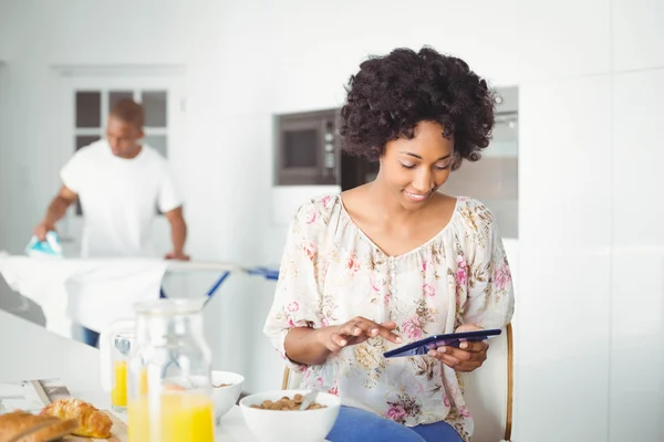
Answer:
[{"label": "man in white t-shirt ironing in the background", "polygon": [[[183,201],[166,159],[142,143],[145,112],[132,99],[116,103],[106,138],[83,147],[60,172],[63,186],[34,233],[44,240],[68,208],[83,208],[82,257],[154,256],[153,221],[157,208],[170,223],[170,260],[185,254],[187,225]],[[98,334],[82,328],[82,340],[96,346]]]}]

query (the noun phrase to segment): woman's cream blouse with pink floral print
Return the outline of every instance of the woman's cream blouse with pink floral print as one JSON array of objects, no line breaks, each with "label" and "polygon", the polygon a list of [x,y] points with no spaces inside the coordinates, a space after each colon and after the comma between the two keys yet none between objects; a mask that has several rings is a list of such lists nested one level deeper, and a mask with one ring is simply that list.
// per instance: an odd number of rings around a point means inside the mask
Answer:
[{"label": "woman's cream blouse with pink floral print", "polygon": [[[509,265],[492,213],[457,198],[449,223],[425,244],[387,256],[352,221],[340,196],[303,204],[291,224],[266,335],[303,388],[326,388],[342,403],[408,427],[452,424],[464,438],[473,420],[454,369],[429,356],[383,352],[463,324],[501,328],[511,319]],[[325,327],[355,316],[393,320],[403,344],[374,337],[320,366],[294,364],[283,343],[292,327]]]}]

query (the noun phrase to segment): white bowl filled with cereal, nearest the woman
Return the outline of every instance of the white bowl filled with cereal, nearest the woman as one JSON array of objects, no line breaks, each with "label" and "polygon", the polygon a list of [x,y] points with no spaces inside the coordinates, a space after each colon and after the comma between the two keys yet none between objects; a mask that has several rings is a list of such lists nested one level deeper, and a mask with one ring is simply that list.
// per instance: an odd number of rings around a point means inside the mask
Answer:
[{"label": "white bowl filled with cereal, nearest the woman", "polygon": [[292,398],[311,390],[273,390],[242,398],[240,410],[247,427],[260,442],[322,442],[334,427],[341,399],[338,396],[321,392],[315,402],[325,408],[304,411],[276,411],[251,408],[264,400],[277,401],[284,396]]}]

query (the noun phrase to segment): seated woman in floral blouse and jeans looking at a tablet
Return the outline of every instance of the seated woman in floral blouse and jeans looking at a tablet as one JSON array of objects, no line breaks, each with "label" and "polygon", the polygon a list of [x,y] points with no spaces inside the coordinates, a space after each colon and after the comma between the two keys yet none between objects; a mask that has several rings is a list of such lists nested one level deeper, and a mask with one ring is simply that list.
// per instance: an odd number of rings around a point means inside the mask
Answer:
[{"label": "seated woman in floral blouse and jeans looking at a tablet", "polygon": [[510,319],[509,266],[491,212],[437,190],[489,144],[495,98],[459,59],[398,49],[362,63],[341,110],[346,151],[373,182],[314,199],[292,222],[264,333],[304,387],[342,398],[330,441],[468,441],[457,372],[486,343],[385,359],[434,334]]}]

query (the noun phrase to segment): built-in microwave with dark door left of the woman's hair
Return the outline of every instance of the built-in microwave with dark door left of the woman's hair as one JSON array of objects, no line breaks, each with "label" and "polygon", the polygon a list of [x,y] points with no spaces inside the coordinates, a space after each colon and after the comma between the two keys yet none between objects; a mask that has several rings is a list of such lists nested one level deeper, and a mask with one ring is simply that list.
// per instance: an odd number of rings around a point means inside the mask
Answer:
[{"label": "built-in microwave with dark door left of the woman's hair", "polygon": [[277,186],[339,185],[339,109],[277,115],[276,126]]}]

